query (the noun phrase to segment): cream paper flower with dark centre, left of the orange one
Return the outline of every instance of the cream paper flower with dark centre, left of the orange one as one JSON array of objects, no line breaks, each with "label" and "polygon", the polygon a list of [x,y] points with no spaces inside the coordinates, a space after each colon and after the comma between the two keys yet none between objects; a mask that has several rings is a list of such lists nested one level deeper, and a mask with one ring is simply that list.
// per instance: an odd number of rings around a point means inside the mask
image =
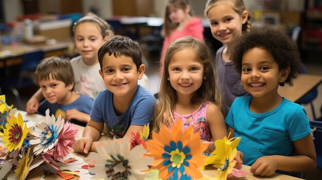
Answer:
[{"label": "cream paper flower with dark centre, left of the orange one", "polygon": [[[106,159],[105,168],[98,174],[106,174],[105,179],[144,179],[148,165],[153,162],[152,157],[144,157],[146,149],[135,146],[130,149],[127,137],[100,142],[97,152]],[[96,176],[94,176],[95,178]],[[97,177],[98,178],[98,177]]]}]

